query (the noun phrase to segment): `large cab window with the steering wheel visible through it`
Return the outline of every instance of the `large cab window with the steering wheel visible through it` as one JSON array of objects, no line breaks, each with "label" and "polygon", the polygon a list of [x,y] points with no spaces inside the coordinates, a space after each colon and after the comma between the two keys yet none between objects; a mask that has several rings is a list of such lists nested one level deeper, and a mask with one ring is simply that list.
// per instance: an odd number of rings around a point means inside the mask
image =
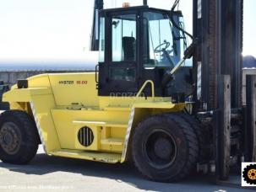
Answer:
[{"label": "large cab window with the steering wheel visible through it", "polygon": [[[179,17],[174,16],[174,20],[182,25]],[[175,67],[186,48],[185,35],[172,27],[166,13],[144,13],[143,21],[144,67]]]}]

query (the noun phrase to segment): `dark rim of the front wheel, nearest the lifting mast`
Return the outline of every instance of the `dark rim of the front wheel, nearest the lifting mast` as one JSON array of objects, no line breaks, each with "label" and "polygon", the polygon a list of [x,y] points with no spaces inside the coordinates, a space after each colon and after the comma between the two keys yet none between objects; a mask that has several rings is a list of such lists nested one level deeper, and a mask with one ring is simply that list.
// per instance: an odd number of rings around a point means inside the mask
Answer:
[{"label": "dark rim of the front wheel, nearest the lifting mast", "polygon": [[152,167],[166,168],[172,165],[176,158],[177,145],[171,134],[157,129],[146,137],[143,153]]}]

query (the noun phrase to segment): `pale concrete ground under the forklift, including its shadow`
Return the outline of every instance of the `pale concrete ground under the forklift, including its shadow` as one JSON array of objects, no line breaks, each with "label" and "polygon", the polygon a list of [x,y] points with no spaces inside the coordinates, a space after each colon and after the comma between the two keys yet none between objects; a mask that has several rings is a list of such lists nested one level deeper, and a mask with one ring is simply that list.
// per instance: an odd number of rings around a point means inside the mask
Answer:
[{"label": "pale concrete ground under the forklift, including its shadow", "polygon": [[[233,175],[232,179],[240,177]],[[28,165],[0,161],[0,191],[245,191],[216,185],[208,176],[177,184],[144,179],[130,164],[106,164],[47,156],[42,147]],[[252,190],[248,190],[252,191]]]}]

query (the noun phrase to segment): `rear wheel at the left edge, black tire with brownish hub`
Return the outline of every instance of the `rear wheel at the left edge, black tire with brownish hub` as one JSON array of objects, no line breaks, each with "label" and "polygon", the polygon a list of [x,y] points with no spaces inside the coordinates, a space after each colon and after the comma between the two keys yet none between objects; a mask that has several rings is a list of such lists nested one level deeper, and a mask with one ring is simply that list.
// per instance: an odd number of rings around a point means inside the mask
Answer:
[{"label": "rear wheel at the left edge, black tire with brownish hub", "polygon": [[4,163],[25,164],[35,157],[39,136],[35,121],[19,110],[0,115],[0,159]]}]

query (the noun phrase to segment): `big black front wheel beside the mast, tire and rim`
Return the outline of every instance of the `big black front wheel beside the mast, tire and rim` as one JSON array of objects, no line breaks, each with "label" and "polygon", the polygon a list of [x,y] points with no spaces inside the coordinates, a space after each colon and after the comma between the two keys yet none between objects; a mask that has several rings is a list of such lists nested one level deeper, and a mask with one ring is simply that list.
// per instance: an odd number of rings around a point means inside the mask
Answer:
[{"label": "big black front wheel beside the mast, tire and rim", "polygon": [[[157,136],[159,139],[155,139]],[[148,179],[159,182],[181,180],[196,167],[198,157],[197,136],[179,115],[155,115],[142,121],[134,130],[133,161]]]}]

